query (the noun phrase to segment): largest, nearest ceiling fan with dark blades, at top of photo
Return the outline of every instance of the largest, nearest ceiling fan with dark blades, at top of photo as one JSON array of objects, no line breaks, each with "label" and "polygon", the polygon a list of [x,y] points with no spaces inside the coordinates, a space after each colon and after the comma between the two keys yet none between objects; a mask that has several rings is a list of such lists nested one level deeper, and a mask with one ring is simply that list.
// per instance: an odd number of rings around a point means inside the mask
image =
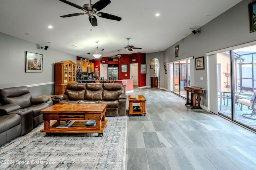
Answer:
[{"label": "largest, nearest ceiling fan with dark blades, at top of photo", "polygon": [[[103,8],[105,8],[106,6],[108,6],[108,4],[110,4],[110,0],[99,0],[98,2],[96,2],[95,4],[92,4],[92,0],[90,0],[90,4],[84,4],[84,6],[79,6],[76,4],[73,4],[72,2],[68,2],[66,0],[59,0],[61,2],[64,2],[65,4],[71,5],[75,8],[78,8],[82,11],[84,11],[85,13],[75,13],[75,14],[68,14],[68,15],[64,15],[64,16],[60,16],[62,18],[66,18],[66,17],[72,17],[72,16],[80,16],[80,15],[84,15],[87,14],[89,16],[89,21],[92,24],[92,26],[97,26],[98,22],[96,19],[96,16],[99,16],[101,18],[106,18],[109,20],[116,20],[116,21],[120,21],[122,18],[118,17],[118,16],[114,16],[112,14],[107,14],[104,12],[98,12],[100,10],[102,10]],[[96,16],[95,16],[96,15]]]}]

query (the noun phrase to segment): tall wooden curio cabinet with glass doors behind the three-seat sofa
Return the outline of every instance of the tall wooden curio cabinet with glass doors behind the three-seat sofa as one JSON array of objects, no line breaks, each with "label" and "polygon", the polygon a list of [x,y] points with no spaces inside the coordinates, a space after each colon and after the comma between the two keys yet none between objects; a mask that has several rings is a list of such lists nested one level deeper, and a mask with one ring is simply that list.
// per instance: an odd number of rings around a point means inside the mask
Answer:
[{"label": "tall wooden curio cabinet with glass doors behind the three-seat sofa", "polygon": [[64,94],[68,83],[76,83],[76,64],[72,61],[55,63],[55,94]]}]

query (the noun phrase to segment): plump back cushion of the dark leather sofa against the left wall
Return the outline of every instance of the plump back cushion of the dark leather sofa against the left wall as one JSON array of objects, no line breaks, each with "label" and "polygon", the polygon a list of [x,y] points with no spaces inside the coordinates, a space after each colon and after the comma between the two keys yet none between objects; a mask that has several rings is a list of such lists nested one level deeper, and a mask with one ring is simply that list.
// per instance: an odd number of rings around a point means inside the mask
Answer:
[{"label": "plump back cushion of the dark leather sofa against the left wall", "polygon": [[0,94],[5,104],[16,104],[22,109],[31,105],[32,96],[26,86],[3,88]]}]

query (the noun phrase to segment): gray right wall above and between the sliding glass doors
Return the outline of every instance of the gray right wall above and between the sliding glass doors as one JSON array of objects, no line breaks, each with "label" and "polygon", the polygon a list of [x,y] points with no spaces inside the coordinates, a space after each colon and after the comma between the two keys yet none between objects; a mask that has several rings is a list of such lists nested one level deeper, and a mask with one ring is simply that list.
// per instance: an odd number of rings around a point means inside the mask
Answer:
[{"label": "gray right wall above and between the sliding glass doors", "polygon": [[[200,28],[201,33],[197,33],[196,35],[191,33],[166,49],[164,51],[164,62],[169,63],[191,56],[194,56],[194,58],[204,56],[204,70],[195,70],[194,59],[190,60],[191,86],[202,87],[206,89],[207,93],[206,53],[256,40],[256,31],[249,32],[248,3],[251,1],[243,0],[202,26]],[[178,58],[174,56],[174,47],[176,45],[179,45],[180,56]],[[203,77],[204,80],[200,80],[200,77]],[[163,87],[168,89],[166,76],[164,76]],[[208,107],[207,96],[206,94],[203,96],[206,100],[204,104]]]}]

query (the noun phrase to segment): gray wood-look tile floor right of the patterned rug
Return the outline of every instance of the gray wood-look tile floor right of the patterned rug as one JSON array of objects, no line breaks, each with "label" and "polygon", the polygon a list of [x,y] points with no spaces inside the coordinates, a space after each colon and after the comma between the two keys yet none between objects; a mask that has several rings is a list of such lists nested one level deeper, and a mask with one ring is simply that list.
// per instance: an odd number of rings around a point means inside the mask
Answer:
[{"label": "gray wood-look tile floor right of the patterned rug", "polygon": [[[255,170],[256,134],[214,113],[184,106],[160,89],[144,95],[145,116],[128,119],[127,170]],[[128,109],[128,102],[127,102]]]}]

